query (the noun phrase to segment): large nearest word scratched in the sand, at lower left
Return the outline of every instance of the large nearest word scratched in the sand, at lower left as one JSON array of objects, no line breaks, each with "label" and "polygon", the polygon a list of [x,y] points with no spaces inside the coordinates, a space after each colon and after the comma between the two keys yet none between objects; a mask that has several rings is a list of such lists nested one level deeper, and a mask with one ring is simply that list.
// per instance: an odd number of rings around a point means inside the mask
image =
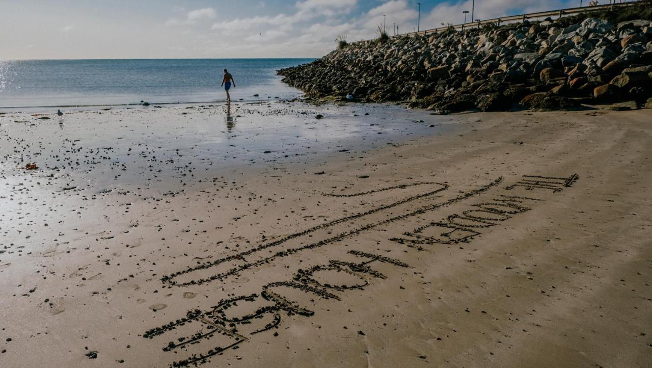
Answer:
[{"label": "large nearest word scratched in the sand, at lower left", "polygon": [[[340,300],[340,295],[344,290],[363,288],[373,279],[386,278],[383,273],[370,266],[374,262],[383,262],[402,268],[409,267],[399,260],[378,254],[361,251],[349,251],[348,254],[360,258],[360,261],[329,260],[327,264],[313,266],[305,270],[299,269],[289,281],[265,284],[261,288],[260,294],[223,299],[208,311],[199,309],[188,311],[185,318],[153,328],[145,332],[143,336],[152,339],[158,335],[190,326],[190,335],[184,336],[183,333],[181,335],[177,333],[179,335],[177,341],[170,341],[163,350],[185,350],[188,346],[201,341],[218,340],[219,345],[213,345],[214,347],[206,352],[192,354],[184,360],[175,361],[172,365],[173,367],[185,367],[205,363],[209,358],[221,354],[224,350],[237,348],[237,345],[250,339],[248,336],[278,326],[281,322],[281,312],[302,316],[314,314],[314,311],[305,307],[301,301],[296,300],[301,298],[296,298],[296,295],[293,298],[288,294],[304,292],[313,297]],[[327,280],[325,277],[328,277],[329,274],[342,272],[350,276],[348,281],[343,283],[341,277],[337,277],[335,281],[325,281]],[[318,278],[315,276],[317,274],[319,274]],[[258,308],[252,313],[231,315],[229,309],[233,310],[238,303],[252,303],[254,308]]]}]

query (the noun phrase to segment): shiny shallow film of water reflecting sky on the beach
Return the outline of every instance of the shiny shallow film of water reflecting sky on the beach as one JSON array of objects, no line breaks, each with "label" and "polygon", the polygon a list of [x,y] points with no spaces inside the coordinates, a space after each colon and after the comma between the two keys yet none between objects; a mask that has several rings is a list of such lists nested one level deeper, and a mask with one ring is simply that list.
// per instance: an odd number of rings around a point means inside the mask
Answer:
[{"label": "shiny shallow film of water reflecting sky on the beach", "polygon": [[[145,185],[168,191],[180,183],[246,166],[306,164],[445,130],[441,117],[400,106],[240,102],[74,111],[59,118],[0,115],[0,174],[36,162],[60,186],[98,191]],[[316,115],[323,115],[316,119]],[[427,121],[415,120],[415,115]],[[436,127],[429,127],[435,123]],[[31,144],[23,142],[25,136]],[[314,163],[314,162],[313,162]],[[1,193],[1,192],[0,192]]]}]

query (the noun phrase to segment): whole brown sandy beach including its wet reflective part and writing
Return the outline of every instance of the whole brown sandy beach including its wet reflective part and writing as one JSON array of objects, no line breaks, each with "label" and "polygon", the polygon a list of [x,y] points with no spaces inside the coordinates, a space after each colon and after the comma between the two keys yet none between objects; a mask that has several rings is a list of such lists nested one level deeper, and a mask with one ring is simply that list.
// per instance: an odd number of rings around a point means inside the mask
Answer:
[{"label": "whole brown sandy beach including its wet reflective part and writing", "polygon": [[652,358],[650,110],[49,116],[0,115],[2,366]]}]

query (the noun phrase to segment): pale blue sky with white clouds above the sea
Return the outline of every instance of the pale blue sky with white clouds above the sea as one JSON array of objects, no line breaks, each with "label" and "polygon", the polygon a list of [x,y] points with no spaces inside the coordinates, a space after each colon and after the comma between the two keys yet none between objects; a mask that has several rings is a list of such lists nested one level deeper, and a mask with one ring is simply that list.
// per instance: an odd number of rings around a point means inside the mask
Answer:
[{"label": "pale blue sky with white clouds above the sea", "polygon": [[[0,60],[321,57],[373,38],[464,21],[473,0],[0,0]],[[584,1],[585,3],[587,1]],[[606,2],[606,0],[601,1]],[[475,0],[475,18],[579,0]],[[469,13],[468,19],[470,20]]]}]

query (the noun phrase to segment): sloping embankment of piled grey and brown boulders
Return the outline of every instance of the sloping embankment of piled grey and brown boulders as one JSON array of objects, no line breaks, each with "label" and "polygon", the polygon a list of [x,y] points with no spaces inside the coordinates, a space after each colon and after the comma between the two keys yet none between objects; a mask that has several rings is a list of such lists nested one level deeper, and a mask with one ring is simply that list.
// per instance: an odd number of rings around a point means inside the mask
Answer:
[{"label": "sloping embankment of piled grey and brown boulders", "polygon": [[409,101],[441,113],[652,107],[652,22],[562,18],[370,40],[278,74],[314,99]]}]

